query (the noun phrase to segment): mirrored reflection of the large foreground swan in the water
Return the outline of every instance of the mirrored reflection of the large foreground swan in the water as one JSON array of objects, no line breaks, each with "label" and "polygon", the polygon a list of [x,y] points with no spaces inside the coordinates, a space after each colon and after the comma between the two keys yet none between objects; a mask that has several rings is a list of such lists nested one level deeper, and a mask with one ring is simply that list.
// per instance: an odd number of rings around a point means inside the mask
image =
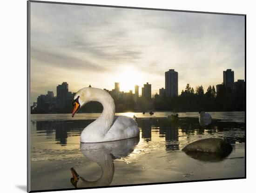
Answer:
[{"label": "mirrored reflection of the large foreground swan in the water", "polygon": [[126,140],[101,142],[101,143],[81,143],[81,152],[88,159],[95,161],[101,167],[101,177],[95,181],[88,181],[81,177],[74,167],[71,168],[72,185],[79,187],[109,186],[115,173],[114,160],[126,157],[134,151],[140,138]]}]

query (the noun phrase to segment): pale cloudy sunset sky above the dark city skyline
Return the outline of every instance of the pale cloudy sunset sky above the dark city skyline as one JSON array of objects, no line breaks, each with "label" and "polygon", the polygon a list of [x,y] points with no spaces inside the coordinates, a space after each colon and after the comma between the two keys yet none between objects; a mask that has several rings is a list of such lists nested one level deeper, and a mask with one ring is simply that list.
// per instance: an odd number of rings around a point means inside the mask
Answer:
[{"label": "pale cloudy sunset sky above the dark city skyline", "polygon": [[244,79],[244,16],[31,3],[31,102],[67,82],[121,91],[179,73],[179,93]]}]

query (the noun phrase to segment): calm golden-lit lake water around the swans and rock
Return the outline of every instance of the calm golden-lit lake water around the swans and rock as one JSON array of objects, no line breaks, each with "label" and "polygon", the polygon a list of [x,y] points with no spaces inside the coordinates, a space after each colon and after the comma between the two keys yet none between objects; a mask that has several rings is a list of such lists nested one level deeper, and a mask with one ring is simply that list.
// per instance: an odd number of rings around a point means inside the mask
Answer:
[{"label": "calm golden-lit lake water around the swans and rock", "polygon": [[[140,138],[80,144],[84,127],[100,113],[31,115],[31,189],[117,186],[245,176],[245,113],[211,112],[212,123],[200,126],[198,113],[116,113],[138,118]],[[176,113],[175,113],[176,114]],[[224,158],[187,155],[182,148],[205,138],[233,146]],[[71,182],[72,173],[80,177]]]}]

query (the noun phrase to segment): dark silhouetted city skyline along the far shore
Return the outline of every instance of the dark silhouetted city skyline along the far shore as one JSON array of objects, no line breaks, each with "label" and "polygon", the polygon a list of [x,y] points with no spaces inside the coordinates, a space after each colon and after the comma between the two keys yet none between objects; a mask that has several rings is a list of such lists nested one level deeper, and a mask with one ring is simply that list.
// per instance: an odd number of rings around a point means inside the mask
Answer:
[{"label": "dark silhouetted city skyline along the far shore", "polygon": [[[230,100],[230,94],[234,94],[236,98],[236,109],[240,110],[241,105],[243,105],[243,92],[245,89],[245,81],[244,80],[237,80],[234,81],[234,74],[235,72],[232,69],[227,69],[223,71],[223,80],[222,84],[215,86],[209,85],[206,89],[202,86],[191,87],[189,84],[186,86],[184,91],[182,90],[181,95],[178,95],[177,88],[178,88],[178,72],[175,69],[169,69],[169,71],[165,72],[165,86],[159,89],[159,94],[152,94],[151,93],[151,84],[144,84],[144,87],[141,87],[141,95],[139,95],[139,86],[135,85],[135,92],[133,93],[132,90],[129,92],[124,92],[120,90],[120,84],[115,82],[114,89],[106,89],[111,97],[113,97],[115,101],[115,105],[117,106],[117,111],[129,111],[129,110],[147,110],[147,109],[167,109],[173,108],[176,103],[179,103],[187,97],[186,100],[190,101],[193,98],[188,98],[191,96],[195,96],[196,98],[201,98],[205,96],[206,99],[210,99],[210,103],[214,102],[215,105],[219,106],[219,109],[222,108],[222,105],[218,102],[220,99],[225,100],[225,97],[228,97]],[[91,85],[89,85],[91,87]],[[47,94],[40,94],[37,97],[37,102],[33,102],[31,105],[31,112],[32,113],[67,113],[71,111],[70,107],[72,101],[74,100],[74,92],[70,92],[68,90],[68,83],[62,82],[62,84],[57,85],[56,90],[57,94],[54,96],[53,91],[47,91]],[[202,98],[201,98],[202,99]],[[216,99],[216,100],[215,100]],[[194,98],[195,100],[195,98]],[[163,102],[170,104],[168,107],[163,107]],[[213,103],[212,103],[213,104]],[[215,106],[214,105],[214,106]],[[187,108],[188,106],[185,106]],[[177,108],[177,107],[176,107]],[[179,106],[178,108],[181,109]],[[193,108],[193,107],[192,107]],[[215,106],[216,108],[216,106]],[[232,108],[232,107],[231,107]],[[101,106],[96,105],[94,103],[88,108],[88,111],[98,112],[101,111]],[[184,109],[184,107],[183,107]],[[189,110],[189,109],[186,109]],[[191,109],[190,109],[191,110]]]}]

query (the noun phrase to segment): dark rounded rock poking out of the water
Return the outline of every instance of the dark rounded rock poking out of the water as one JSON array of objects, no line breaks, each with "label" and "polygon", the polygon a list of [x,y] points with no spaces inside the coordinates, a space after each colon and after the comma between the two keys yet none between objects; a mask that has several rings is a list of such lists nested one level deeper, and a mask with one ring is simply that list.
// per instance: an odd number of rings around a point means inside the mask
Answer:
[{"label": "dark rounded rock poking out of the water", "polygon": [[232,150],[233,148],[228,142],[217,138],[197,140],[182,149],[186,153],[220,153],[223,155],[231,153]]}]

